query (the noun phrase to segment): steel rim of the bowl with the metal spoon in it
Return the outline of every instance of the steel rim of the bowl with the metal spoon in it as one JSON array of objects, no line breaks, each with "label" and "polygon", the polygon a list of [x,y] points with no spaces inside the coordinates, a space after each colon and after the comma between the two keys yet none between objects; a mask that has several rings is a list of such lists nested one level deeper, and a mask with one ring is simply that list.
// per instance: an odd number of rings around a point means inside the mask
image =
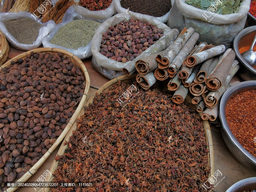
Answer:
[{"label": "steel rim of the bowl with the metal spoon in it", "polygon": [[234,41],[233,41],[233,49],[235,50],[235,54],[236,54],[236,57],[239,59],[239,61],[241,63],[243,63],[243,65],[249,69],[250,71],[252,71],[253,73],[256,73],[256,69],[254,69],[251,65],[249,65],[244,59],[243,57],[241,56],[240,52],[239,52],[239,49],[238,49],[238,41],[243,38],[244,36],[254,32],[256,30],[256,25],[255,26],[250,26],[250,27],[247,27],[243,30],[241,30],[234,38]]}]

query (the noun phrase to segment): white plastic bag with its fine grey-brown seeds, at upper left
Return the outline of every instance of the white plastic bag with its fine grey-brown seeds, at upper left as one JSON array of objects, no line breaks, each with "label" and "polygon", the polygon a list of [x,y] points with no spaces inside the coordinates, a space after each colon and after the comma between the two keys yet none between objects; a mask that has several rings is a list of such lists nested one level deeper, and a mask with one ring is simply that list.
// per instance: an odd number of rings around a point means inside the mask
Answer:
[{"label": "white plastic bag with its fine grey-brown seeds, at upper left", "polygon": [[53,20],[43,23],[27,11],[0,13],[0,29],[16,49],[28,51],[38,48],[54,27]]}]

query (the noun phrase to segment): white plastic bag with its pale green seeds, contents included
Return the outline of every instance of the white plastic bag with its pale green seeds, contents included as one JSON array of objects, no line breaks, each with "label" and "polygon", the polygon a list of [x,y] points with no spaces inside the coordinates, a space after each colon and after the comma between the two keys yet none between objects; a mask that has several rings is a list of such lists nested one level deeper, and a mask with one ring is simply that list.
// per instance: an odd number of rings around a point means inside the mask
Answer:
[{"label": "white plastic bag with its pale green seeds, contents included", "polygon": [[69,7],[65,14],[62,22],[43,39],[44,47],[64,49],[79,59],[91,57],[91,40],[101,23],[85,19],[75,13],[73,7]]}]

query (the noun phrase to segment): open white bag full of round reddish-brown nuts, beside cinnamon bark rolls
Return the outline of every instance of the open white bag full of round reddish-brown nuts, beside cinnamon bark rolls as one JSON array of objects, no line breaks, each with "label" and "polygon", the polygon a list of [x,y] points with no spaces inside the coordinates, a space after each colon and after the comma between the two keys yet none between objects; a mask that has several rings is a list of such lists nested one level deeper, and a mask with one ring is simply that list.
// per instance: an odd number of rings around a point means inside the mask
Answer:
[{"label": "open white bag full of round reddish-brown nuts, beside cinnamon bark rolls", "polygon": [[109,79],[171,29],[155,17],[119,13],[96,30],[91,41],[92,68]]}]

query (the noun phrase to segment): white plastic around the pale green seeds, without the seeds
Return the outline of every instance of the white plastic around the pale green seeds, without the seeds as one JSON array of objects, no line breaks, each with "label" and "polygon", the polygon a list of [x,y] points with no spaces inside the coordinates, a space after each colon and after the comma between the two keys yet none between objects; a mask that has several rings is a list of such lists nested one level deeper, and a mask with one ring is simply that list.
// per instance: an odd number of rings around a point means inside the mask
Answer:
[{"label": "white plastic around the pale green seeds, without the seeds", "polygon": [[88,45],[86,45],[85,47],[79,47],[78,49],[69,49],[69,48],[66,48],[63,46],[51,44],[51,42],[50,42],[53,39],[53,37],[55,36],[55,34],[58,32],[59,28],[61,28],[65,24],[75,20],[75,18],[82,19],[82,17],[79,14],[75,13],[73,7],[69,7],[67,9],[65,15],[63,16],[62,22],[57,24],[55,26],[55,28],[43,39],[43,41],[42,41],[43,46],[64,49],[64,50],[69,51],[70,53],[76,55],[79,59],[85,59],[87,57],[92,56],[91,42]]}]

